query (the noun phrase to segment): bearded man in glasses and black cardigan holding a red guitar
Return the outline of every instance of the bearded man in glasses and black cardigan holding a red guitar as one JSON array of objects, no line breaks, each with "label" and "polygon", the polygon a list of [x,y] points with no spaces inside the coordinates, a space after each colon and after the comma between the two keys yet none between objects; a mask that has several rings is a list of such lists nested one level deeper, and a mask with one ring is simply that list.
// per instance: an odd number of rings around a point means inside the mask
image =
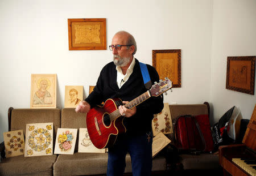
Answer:
[{"label": "bearded man in glasses and black cardigan holding a red guitar", "polygon": [[[86,126],[93,144],[108,147],[107,175],[123,174],[127,153],[134,176],[151,175],[151,121],[162,111],[163,97],[148,93],[139,61],[134,58],[137,45],[130,33],[117,32],[109,49],[113,62],[102,68],[93,92],[75,110],[87,113]],[[146,67],[152,83],[159,81],[155,68]],[[97,106],[102,101],[105,104]]]}]

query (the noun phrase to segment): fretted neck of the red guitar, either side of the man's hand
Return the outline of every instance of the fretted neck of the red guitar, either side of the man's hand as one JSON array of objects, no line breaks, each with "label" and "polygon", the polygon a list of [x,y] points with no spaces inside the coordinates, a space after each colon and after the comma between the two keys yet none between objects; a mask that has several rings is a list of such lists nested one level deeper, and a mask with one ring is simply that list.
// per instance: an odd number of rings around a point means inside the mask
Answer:
[{"label": "fretted neck of the red guitar, either side of the man's hand", "polygon": [[[125,104],[125,108],[133,109],[135,106],[141,104],[143,101],[147,100],[147,98],[150,98],[150,97],[151,97],[150,92],[147,91],[147,92],[143,93],[142,95],[138,96],[137,98],[134,98],[127,104]],[[121,114],[119,112],[119,109],[113,111],[113,113],[109,114],[109,116],[110,116],[111,121],[114,121],[115,119],[120,117]]]}]

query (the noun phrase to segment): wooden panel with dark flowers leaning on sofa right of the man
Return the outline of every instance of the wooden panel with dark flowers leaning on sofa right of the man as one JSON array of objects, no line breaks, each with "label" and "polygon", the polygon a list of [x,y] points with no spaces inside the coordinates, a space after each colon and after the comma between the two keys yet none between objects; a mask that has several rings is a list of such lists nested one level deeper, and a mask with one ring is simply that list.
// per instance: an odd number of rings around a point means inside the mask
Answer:
[{"label": "wooden panel with dark flowers leaning on sofa right of the man", "polygon": [[172,130],[172,118],[168,103],[164,103],[164,108],[159,114],[155,114],[152,119],[152,131],[156,136],[159,132],[163,134],[171,134]]}]

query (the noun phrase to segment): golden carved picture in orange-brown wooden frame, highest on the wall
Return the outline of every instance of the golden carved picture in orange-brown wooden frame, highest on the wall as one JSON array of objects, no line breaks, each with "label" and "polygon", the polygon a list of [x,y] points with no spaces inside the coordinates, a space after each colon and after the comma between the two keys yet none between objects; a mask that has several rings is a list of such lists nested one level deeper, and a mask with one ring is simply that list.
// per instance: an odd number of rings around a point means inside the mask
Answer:
[{"label": "golden carved picture in orange-brown wooden frame, highest on the wall", "polygon": [[68,19],[69,50],[106,50],[106,19]]}]

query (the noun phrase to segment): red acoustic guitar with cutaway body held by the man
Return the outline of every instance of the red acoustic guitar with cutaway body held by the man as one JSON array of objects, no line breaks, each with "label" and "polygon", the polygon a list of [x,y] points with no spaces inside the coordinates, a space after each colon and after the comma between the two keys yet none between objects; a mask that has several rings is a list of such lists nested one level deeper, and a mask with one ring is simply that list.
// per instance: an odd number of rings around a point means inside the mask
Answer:
[{"label": "red acoustic guitar with cutaway body held by the man", "polygon": [[[166,80],[152,85],[150,90],[125,104],[125,107],[132,109],[148,98],[160,96],[171,88],[172,81],[166,78]],[[118,134],[126,132],[123,125],[125,117],[119,113],[118,109],[120,105],[123,105],[120,98],[110,98],[105,101],[104,105],[98,105],[86,114],[88,134],[95,147],[99,149],[107,148],[115,143]]]}]

